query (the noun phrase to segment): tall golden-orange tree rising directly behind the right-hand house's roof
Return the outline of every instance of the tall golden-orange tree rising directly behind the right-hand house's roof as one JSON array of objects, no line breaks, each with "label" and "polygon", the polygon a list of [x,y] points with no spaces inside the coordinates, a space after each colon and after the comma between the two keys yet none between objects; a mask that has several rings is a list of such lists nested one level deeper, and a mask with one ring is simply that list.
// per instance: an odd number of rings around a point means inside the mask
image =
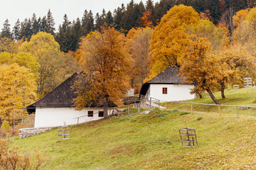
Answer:
[{"label": "tall golden-orange tree rising directly behind the right-hand house's roof", "polygon": [[200,20],[191,6],[174,6],[161,18],[151,40],[151,78],[169,65],[180,64],[184,47],[190,45],[191,35],[183,25],[194,25]]}]

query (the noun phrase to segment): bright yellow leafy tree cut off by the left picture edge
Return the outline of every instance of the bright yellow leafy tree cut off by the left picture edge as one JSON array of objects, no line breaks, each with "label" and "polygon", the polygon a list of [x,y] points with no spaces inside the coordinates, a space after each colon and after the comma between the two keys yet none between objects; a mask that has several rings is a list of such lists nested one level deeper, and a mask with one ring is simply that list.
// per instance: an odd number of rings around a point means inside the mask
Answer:
[{"label": "bright yellow leafy tree cut off by the left picture edge", "polygon": [[20,118],[22,110],[36,101],[36,81],[30,69],[18,64],[0,65],[0,116],[9,121]]}]

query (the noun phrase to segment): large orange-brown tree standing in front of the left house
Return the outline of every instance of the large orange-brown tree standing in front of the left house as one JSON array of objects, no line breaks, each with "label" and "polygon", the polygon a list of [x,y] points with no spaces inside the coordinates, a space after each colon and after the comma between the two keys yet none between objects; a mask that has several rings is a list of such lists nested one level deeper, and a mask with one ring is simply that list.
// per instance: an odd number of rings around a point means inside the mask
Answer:
[{"label": "large orange-brown tree standing in front of the left house", "polygon": [[77,52],[82,72],[75,84],[76,108],[96,102],[104,107],[104,118],[107,118],[108,103],[118,102],[126,94],[132,57],[124,43],[124,35],[110,27],[82,39]]}]

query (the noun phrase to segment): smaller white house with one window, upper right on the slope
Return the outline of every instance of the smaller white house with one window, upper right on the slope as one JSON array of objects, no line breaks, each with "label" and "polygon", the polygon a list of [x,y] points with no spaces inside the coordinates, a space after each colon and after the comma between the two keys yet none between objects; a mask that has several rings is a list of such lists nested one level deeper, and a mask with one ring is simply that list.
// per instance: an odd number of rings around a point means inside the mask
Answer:
[{"label": "smaller white house with one window, upper right on the slope", "polygon": [[195,98],[190,94],[194,84],[178,77],[177,67],[167,67],[163,72],[142,85],[140,96],[156,98],[160,101],[183,101]]}]

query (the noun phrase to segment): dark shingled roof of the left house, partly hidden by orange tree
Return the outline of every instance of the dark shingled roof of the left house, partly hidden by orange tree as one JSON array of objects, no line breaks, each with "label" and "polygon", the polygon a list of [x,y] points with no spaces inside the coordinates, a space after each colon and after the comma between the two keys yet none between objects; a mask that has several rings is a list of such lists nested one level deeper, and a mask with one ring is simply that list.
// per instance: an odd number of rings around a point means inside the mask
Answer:
[{"label": "dark shingled roof of the left house, partly hidden by orange tree", "polygon": [[[75,89],[72,88],[77,73],[73,74],[71,77],[66,79],[62,84],[57,86],[53,91],[50,91],[46,96],[41,98],[41,100],[33,103],[31,106],[27,107],[28,113],[35,112],[36,107],[46,108],[46,107],[58,107],[58,108],[72,108],[74,107],[73,99],[78,97],[75,93]],[[91,103],[88,107],[97,107],[96,103]],[[110,107],[116,107],[114,103],[109,103]]]}]

